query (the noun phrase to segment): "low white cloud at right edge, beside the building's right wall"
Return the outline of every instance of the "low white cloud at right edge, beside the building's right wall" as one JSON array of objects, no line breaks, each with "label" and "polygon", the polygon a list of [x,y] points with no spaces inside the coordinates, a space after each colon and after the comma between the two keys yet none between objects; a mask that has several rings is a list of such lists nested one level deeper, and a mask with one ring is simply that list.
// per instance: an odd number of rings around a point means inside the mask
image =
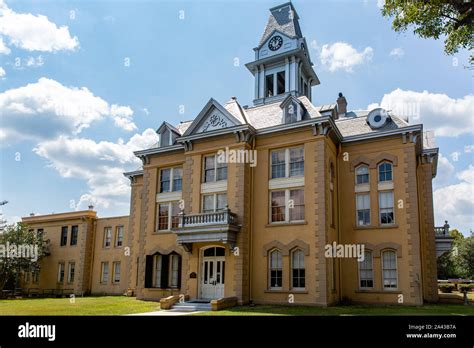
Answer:
[{"label": "low white cloud at right edge, beside the building's right wall", "polygon": [[461,181],[434,191],[434,211],[437,225],[448,220],[451,228],[464,234],[474,229],[474,166],[458,173]]}]

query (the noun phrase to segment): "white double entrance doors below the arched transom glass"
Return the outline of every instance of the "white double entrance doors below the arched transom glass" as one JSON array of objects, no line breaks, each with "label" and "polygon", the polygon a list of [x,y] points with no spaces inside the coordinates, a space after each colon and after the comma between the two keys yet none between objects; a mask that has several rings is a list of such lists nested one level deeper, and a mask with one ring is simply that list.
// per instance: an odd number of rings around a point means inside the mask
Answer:
[{"label": "white double entrance doors below the arched transom glass", "polygon": [[203,256],[201,270],[201,298],[224,297],[225,257]]}]

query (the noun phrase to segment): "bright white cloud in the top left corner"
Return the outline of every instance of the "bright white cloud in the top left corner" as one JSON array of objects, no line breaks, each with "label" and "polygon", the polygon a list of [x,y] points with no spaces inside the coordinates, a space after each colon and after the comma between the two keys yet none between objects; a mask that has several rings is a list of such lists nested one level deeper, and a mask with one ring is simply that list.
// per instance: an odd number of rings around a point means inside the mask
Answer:
[{"label": "bright white cloud in the top left corner", "polygon": [[43,15],[17,13],[3,0],[0,0],[0,34],[10,45],[28,51],[56,52],[79,46],[79,40],[71,36],[67,26],[58,27]]}]

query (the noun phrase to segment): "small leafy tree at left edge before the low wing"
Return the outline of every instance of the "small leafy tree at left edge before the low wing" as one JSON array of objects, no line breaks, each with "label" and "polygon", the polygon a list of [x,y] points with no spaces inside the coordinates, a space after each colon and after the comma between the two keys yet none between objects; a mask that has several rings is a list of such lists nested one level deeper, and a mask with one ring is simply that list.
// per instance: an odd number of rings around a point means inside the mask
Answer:
[{"label": "small leafy tree at left edge before the low wing", "polygon": [[0,234],[0,290],[18,280],[22,272],[39,272],[45,255],[43,236],[23,223],[9,225]]}]

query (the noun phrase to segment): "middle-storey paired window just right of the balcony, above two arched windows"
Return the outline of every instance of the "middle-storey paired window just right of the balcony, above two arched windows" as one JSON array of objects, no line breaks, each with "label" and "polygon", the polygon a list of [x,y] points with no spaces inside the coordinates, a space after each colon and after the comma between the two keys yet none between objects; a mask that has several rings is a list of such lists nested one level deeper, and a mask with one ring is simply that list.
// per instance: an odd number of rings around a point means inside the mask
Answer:
[{"label": "middle-storey paired window just right of the balcony, above two arched windows", "polygon": [[271,222],[304,220],[304,190],[287,189],[271,191]]}]

